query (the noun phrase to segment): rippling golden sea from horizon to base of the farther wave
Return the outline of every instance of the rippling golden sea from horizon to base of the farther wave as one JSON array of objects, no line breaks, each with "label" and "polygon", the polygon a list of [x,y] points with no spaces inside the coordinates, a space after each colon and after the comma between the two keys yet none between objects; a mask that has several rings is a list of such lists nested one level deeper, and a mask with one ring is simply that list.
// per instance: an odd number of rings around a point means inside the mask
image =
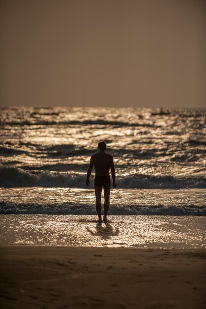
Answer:
[{"label": "rippling golden sea from horizon to base of the farther wave", "polygon": [[119,188],[206,188],[206,110],[5,108],[2,187],[84,188],[99,140]]}]

